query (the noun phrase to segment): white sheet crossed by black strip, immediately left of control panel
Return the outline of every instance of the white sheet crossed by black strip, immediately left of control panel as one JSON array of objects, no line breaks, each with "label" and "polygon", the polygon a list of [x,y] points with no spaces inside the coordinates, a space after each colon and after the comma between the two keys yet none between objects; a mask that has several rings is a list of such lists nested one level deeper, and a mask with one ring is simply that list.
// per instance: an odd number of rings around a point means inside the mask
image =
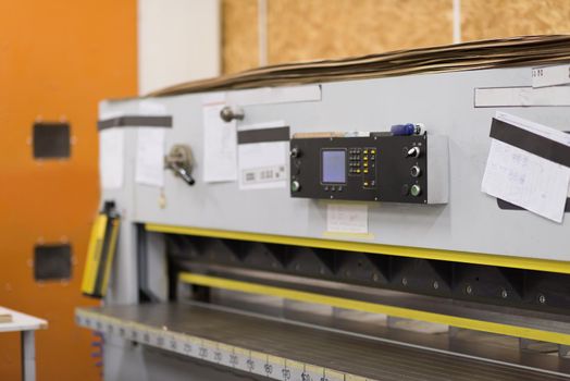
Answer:
[{"label": "white sheet crossed by black strip, immediately left of control panel", "polygon": [[[239,131],[285,126],[275,121],[239,126]],[[237,146],[239,189],[270,189],[287,186],[288,142],[260,142]]]}]

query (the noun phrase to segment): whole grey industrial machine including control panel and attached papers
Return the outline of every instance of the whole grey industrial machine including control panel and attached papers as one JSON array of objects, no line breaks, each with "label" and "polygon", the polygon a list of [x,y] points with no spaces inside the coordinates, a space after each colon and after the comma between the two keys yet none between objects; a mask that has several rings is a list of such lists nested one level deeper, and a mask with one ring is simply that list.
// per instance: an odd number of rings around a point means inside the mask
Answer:
[{"label": "whole grey industrial machine including control panel and attached papers", "polygon": [[569,379],[570,222],[487,177],[507,143],[567,176],[563,144],[492,132],[568,130],[570,87],[533,69],[570,59],[531,56],[101,102],[121,224],[104,306],[76,320],[104,334],[104,379]]}]

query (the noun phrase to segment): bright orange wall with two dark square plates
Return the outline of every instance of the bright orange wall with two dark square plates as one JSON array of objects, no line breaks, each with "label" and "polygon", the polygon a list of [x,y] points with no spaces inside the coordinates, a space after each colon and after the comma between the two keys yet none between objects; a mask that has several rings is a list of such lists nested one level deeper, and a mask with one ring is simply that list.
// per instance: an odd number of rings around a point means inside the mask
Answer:
[{"label": "bright orange wall with two dark square plates", "polygon": [[[38,380],[98,380],[76,306],[98,209],[97,105],[137,91],[136,0],[0,2],[0,305],[49,321],[36,334]],[[69,160],[34,160],[32,125],[66,119]],[[70,242],[69,282],[34,281],[37,242]],[[0,380],[20,379],[17,334],[0,334]]]}]

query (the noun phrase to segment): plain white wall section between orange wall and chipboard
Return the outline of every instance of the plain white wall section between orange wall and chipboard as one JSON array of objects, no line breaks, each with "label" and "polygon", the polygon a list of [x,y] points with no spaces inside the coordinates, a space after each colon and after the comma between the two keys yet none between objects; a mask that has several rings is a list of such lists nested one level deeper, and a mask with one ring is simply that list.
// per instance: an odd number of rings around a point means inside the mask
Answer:
[{"label": "plain white wall section between orange wall and chipboard", "polygon": [[220,0],[138,0],[138,91],[220,75]]}]

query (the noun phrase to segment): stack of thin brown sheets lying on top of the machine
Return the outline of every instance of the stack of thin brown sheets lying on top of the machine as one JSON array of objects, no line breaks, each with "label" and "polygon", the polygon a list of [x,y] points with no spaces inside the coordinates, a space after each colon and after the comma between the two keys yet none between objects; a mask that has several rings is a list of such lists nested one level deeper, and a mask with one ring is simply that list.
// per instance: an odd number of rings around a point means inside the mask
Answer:
[{"label": "stack of thin brown sheets lying on top of the machine", "polygon": [[150,96],[491,67],[547,65],[569,60],[570,36],[525,36],[398,50],[340,60],[264,66],[168,87]]}]

